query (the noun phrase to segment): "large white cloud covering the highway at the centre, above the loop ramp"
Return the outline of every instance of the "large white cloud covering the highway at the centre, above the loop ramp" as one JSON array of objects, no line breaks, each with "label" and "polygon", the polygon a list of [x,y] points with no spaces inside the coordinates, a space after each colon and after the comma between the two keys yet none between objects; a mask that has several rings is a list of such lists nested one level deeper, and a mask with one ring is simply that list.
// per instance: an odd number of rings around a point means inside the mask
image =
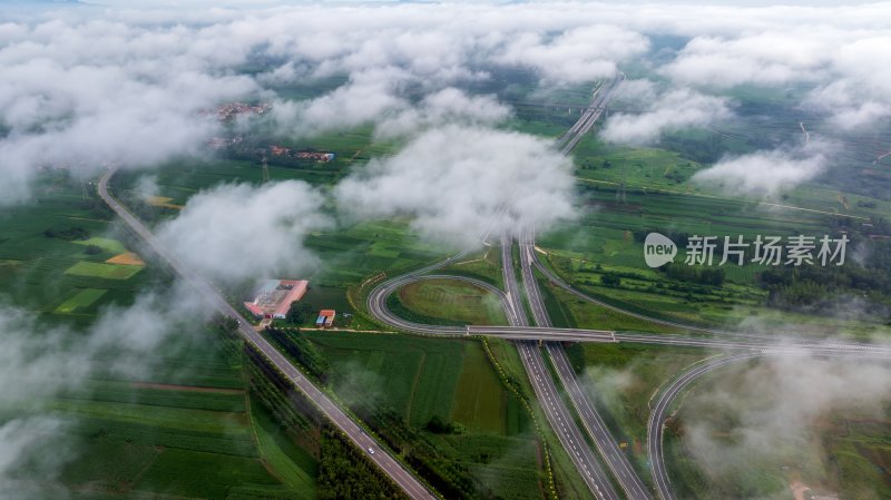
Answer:
[{"label": "large white cloud covering the highway at the centre, above the loop ramp", "polygon": [[532,136],[479,127],[428,130],[334,194],[350,216],[405,216],[422,235],[464,246],[488,231],[574,216],[567,158]]}]

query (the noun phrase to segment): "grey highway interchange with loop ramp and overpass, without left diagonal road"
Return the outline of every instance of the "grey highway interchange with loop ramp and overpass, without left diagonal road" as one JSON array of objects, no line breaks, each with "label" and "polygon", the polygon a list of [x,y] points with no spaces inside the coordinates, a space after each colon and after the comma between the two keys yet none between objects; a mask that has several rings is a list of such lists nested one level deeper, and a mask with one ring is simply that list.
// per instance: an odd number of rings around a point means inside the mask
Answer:
[{"label": "grey highway interchange with loop ramp and overpass, without left diagonal road", "polygon": [[[610,95],[624,79],[624,75],[618,75],[610,84],[598,87],[594,92],[591,106],[582,114],[572,128],[558,141],[561,153],[568,154],[578,143],[581,135],[587,133],[594,122],[599,118],[600,112],[609,99]],[[605,88],[606,87],[606,88]],[[566,389],[566,396],[571,402],[579,420],[590,435],[600,453],[604,462],[613,472],[613,478],[624,490],[629,500],[647,500],[653,494],[644,486],[639,476],[630,465],[627,457],[619,450],[616,441],[606,428],[603,419],[597,414],[595,405],[590,402],[588,393],[581,389],[576,378],[575,371],[569,365],[566,353],[560,341],[570,342],[633,342],[645,344],[672,345],[672,346],[696,346],[705,349],[717,349],[725,351],[736,351],[733,354],[721,355],[712,361],[697,365],[682,374],[668,388],[663,390],[655,408],[652,411],[647,434],[647,452],[650,463],[650,471],[656,483],[656,491],[663,500],[675,500],[672,492],[668,476],[666,472],[662,454],[662,437],[665,421],[668,418],[669,409],[675,402],[675,398],[681,391],[694,382],[697,378],[742,360],[773,355],[773,356],[794,356],[794,355],[821,355],[821,356],[856,356],[872,359],[891,359],[891,347],[885,345],[861,344],[852,342],[825,343],[795,337],[767,336],[756,332],[726,332],[716,329],[707,329],[697,325],[686,325],[676,322],[665,321],[647,316],[640,313],[625,311],[615,305],[605,303],[577,291],[554,272],[542,265],[537,256],[535,248],[535,231],[531,225],[521,227],[519,231],[519,256],[520,271],[525,285],[525,296],[528,301],[530,312],[537,327],[528,324],[526,308],[522,304],[522,295],[517,285],[513,272],[512,238],[505,232],[501,234],[501,267],[505,292],[495,288],[492,285],[483,284],[483,288],[496,293],[505,307],[510,326],[469,326],[463,332],[461,329],[451,326],[443,327],[437,325],[414,324],[394,316],[386,310],[386,297],[401,286],[411,281],[419,280],[424,273],[432,268],[444,267],[456,261],[452,257],[446,262],[409,275],[399,276],[382,283],[369,296],[369,310],[383,323],[391,326],[422,334],[435,335],[489,335],[512,339],[517,341],[517,347],[521,360],[528,372],[529,380],[532,382],[536,396],[541,402],[541,408],[557,433],[564,448],[569,453],[576,464],[579,474],[591,489],[596,498],[620,498],[613,488],[609,478],[606,477],[599,462],[590,453],[590,447],[581,438],[575,421],[568,415],[568,409],[559,398],[559,392],[554,384],[554,379],[544,363],[541,350],[535,342],[545,341],[544,346],[548,353],[555,373],[560,383]],[[604,307],[628,314],[630,316],[648,322],[683,329],[697,334],[709,336],[692,335],[655,335],[635,332],[606,332],[582,329],[554,329],[547,314],[540,290],[535,277],[533,269],[538,269],[551,284],[559,286],[575,296]],[[439,277],[444,277],[440,275]],[[468,281],[461,276],[453,276],[456,280]],[[478,285],[480,283],[477,283]]]}]

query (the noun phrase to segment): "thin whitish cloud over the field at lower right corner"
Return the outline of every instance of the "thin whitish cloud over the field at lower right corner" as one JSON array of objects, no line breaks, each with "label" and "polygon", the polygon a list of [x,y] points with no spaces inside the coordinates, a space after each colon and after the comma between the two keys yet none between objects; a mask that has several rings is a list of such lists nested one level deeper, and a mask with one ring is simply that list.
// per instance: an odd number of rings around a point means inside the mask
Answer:
[{"label": "thin whitish cloud over the field at lower right corner", "polygon": [[[828,470],[817,422],[833,411],[882,416],[891,399],[888,363],[765,359],[715,378],[685,399],[684,443],[709,479],[723,484],[744,484],[758,468]],[[787,491],[783,484],[774,493]]]}]

